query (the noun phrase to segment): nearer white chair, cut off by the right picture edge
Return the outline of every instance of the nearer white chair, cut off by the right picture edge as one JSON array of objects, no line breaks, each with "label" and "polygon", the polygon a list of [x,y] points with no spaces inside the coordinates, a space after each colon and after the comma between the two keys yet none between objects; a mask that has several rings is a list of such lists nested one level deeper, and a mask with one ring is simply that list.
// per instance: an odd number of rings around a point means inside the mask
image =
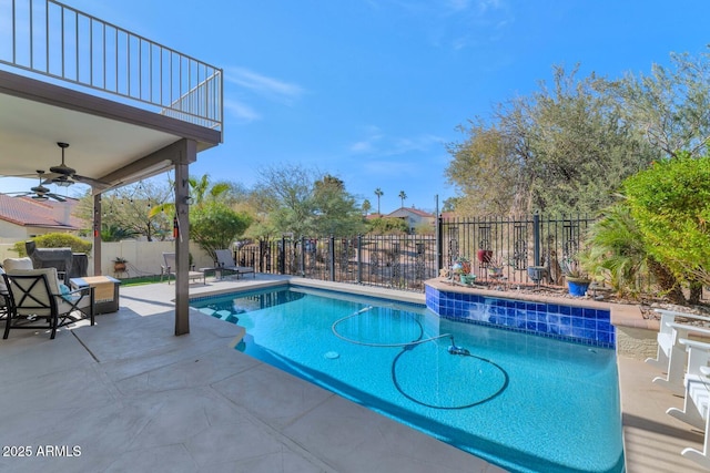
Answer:
[{"label": "nearer white chair, cut off by the right picture edge", "polygon": [[696,463],[710,469],[710,343],[682,339],[680,343],[688,349],[688,373],[686,374],[686,401],[683,410],[671,408],[667,414],[706,432],[702,452],[684,449],[681,454]]}]

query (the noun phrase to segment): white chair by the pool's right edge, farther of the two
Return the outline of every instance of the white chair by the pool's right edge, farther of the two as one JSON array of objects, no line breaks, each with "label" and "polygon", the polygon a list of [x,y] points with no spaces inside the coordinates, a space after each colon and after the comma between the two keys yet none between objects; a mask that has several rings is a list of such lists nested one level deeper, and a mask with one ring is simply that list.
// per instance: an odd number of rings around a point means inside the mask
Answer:
[{"label": "white chair by the pool's right edge, farther of the two", "polygon": [[676,318],[682,317],[710,323],[710,317],[696,316],[693,313],[676,310],[655,309],[661,315],[658,336],[658,353],[656,358],[648,358],[646,362],[662,370],[667,377],[656,377],[653,382],[665,385],[676,394],[682,394],[683,374],[688,353],[686,347],[680,345],[681,339],[687,339],[689,333],[710,336],[710,328],[688,326],[676,322]]}]

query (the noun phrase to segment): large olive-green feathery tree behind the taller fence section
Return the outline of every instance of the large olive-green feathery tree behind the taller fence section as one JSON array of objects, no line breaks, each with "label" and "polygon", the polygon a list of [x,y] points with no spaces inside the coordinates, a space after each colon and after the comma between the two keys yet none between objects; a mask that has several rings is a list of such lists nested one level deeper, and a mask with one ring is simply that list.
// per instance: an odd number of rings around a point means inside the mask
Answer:
[{"label": "large olive-green feathery tree behind the taller fence section", "polygon": [[470,122],[466,140],[449,145],[457,204],[477,214],[596,212],[658,157],[611,94],[599,92],[602,80],[554,72],[551,88],[499,105],[489,123]]}]

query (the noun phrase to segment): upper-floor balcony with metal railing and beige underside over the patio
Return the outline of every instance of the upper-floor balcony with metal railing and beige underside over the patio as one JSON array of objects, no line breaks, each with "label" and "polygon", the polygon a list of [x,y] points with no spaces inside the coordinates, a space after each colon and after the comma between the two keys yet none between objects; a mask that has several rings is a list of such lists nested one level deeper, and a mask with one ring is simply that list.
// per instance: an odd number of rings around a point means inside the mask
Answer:
[{"label": "upper-floor balcony with metal railing and beige underside over the patio", "polygon": [[0,175],[49,169],[57,142],[78,174],[105,184],[95,191],[165,171],[169,158],[149,156],[222,142],[222,76],[63,3],[0,0]]}]

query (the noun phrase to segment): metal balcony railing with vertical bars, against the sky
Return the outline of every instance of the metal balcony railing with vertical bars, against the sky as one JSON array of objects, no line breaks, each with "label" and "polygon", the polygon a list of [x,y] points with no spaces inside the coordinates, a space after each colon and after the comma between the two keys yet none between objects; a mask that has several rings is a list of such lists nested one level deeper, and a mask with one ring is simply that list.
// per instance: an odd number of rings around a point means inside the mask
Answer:
[{"label": "metal balcony railing with vertical bars, against the sky", "polygon": [[222,70],[53,0],[0,0],[0,64],[222,131]]}]

